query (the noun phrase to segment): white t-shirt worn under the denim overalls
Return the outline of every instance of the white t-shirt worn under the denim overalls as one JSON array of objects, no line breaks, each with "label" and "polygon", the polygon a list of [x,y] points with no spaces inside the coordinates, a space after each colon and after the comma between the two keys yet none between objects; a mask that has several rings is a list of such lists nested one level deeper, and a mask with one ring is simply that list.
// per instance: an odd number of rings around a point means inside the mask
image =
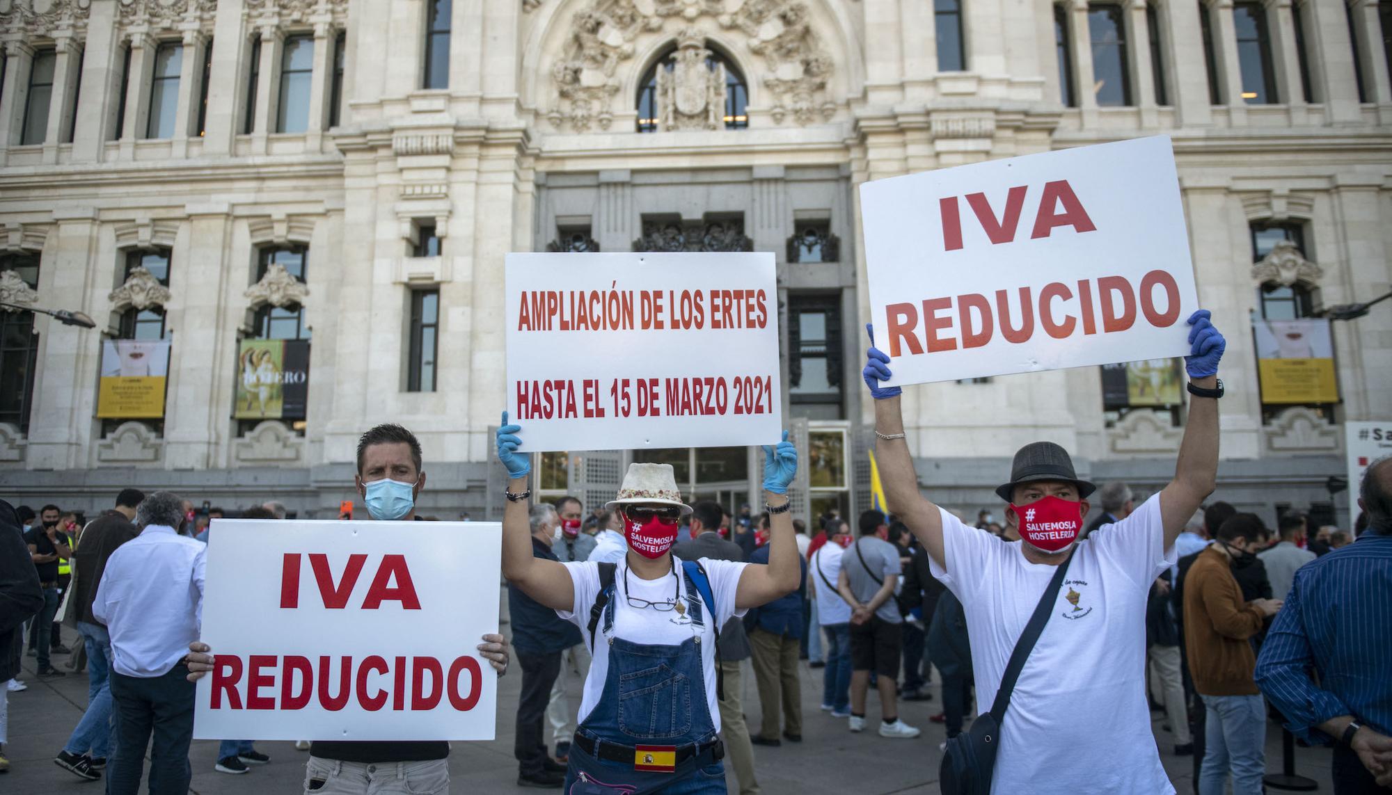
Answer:
[{"label": "white t-shirt worn under the denim overalls", "polygon": [[[674,556],[672,560],[675,560],[677,571],[681,573],[681,559]],[[706,707],[710,710],[710,720],[714,723],[715,731],[720,731],[720,706],[715,696],[714,627],[724,627],[725,621],[731,617],[739,617],[746,613],[745,610],[735,610],[735,595],[739,591],[739,575],[743,574],[745,567],[749,564],[734,560],[711,560],[710,557],[702,557],[700,564],[706,570],[706,575],[710,577],[711,596],[715,598],[715,610],[718,614],[714,623],[709,616],[703,616],[703,625],[696,627],[690,621],[689,610],[683,616],[685,621],[678,623],[675,610],[660,613],[651,607],[631,607],[624,592],[624,568],[626,564],[619,563],[614,571],[612,635],[635,644],[671,646],[681,645],[686,638],[700,637],[702,678],[706,681]],[[599,642],[592,644],[589,634],[590,607],[594,605],[594,598],[600,591],[599,564],[594,560],[586,560],[582,563],[565,563],[564,566],[571,571],[571,581],[575,584],[575,607],[571,610],[557,610],[555,614],[579,627],[580,635],[585,637],[585,645],[594,648],[594,659],[590,663],[590,674],[585,678],[580,713],[576,719],[578,723],[583,723],[589,717],[590,710],[600,703],[600,695],[604,692],[604,680],[608,675],[610,645],[604,642],[603,616],[594,627],[594,632],[600,637]],[[681,588],[681,598],[685,599],[686,578],[681,577],[679,582],[674,582],[672,580],[671,573],[658,580],[642,580],[633,574],[628,575],[628,584],[633,588],[633,596],[649,602],[665,602],[672,598],[672,592],[677,588]]]}]

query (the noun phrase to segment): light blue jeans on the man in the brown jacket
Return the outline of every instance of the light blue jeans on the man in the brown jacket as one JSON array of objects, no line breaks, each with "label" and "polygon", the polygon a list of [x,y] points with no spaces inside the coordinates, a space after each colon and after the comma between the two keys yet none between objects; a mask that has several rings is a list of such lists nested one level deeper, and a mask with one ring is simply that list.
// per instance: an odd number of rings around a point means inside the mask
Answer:
[{"label": "light blue jeans on the man in the brown jacket", "polygon": [[1204,763],[1199,795],[1222,795],[1232,770],[1232,795],[1261,795],[1267,770],[1267,702],[1260,695],[1205,696]]}]

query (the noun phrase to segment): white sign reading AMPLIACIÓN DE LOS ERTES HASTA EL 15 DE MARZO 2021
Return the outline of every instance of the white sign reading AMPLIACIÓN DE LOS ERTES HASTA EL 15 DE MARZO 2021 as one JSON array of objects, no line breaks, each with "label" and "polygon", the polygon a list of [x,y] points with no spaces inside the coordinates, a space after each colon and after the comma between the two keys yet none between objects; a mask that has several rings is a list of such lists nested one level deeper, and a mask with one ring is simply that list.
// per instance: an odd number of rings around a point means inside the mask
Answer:
[{"label": "white sign reading AMPLIACI\u00d3N DE LOS ERTES HASTA EL 15 DE MARZO 2021", "polygon": [[771,253],[508,254],[505,295],[523,450],[782,438]]}]

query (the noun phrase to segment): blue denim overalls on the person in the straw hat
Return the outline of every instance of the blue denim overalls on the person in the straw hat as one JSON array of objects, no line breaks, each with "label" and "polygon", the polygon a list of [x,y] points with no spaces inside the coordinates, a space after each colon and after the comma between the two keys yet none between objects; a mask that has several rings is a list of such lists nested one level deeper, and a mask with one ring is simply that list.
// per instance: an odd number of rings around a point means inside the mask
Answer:
[{"label": "blue denim overalls on the person in the straw hat", "polygon": [[[625,598],[615,585],[604,607],[603,635],[608,642],[608,673],[600,702],[579,726],[576,734],[635,745],[707,744],[715,739],[715,726],[706,706],[706,681],[702,673],[699,632],[704,628],[702,603],[689,577],[686,616],[693,637],[677,646],[635,644],[615,638],[614,602]],[[678,616],[672,612],[671,616]],[[596,759],[571,745],[571,763],[565,771],[564,795],[688,795],[725,792],[725,766],[713,749],[677,764],[672,773],[633,770],[633,763]]]}]

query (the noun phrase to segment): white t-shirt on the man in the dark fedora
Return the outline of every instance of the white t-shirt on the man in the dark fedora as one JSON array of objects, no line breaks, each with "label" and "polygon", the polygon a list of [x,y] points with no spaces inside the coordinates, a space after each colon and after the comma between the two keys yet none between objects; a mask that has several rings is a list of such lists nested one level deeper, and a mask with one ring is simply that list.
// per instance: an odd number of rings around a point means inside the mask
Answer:
[{"label": "white t-shirt on the man in the dark fedora", "polygon": [[[1027,562],[1019,541],[940,514],[947,570],[930,566],[962,600],[984,710],[1057,568]],[[1146,595],[1175,563],[1162,543],[1160,495],[1077,543],[1005,710],[991,792],[1175,792],[1144,696]]]}]

